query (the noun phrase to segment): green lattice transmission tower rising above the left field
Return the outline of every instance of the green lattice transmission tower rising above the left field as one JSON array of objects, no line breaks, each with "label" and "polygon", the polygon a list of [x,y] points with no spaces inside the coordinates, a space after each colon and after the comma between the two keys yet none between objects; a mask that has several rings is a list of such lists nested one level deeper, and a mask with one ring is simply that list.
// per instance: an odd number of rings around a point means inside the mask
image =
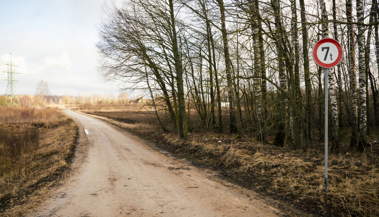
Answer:
[{"label": "green lattice transmission tower rising above the left field", "polygon": [[8,70],[6,71],[6,73],[8,73],[8,79],[5,80],[8,81],[8,87],[6,88],[3,106],[20,106],[19,96],[17,95],[15,86],[17,80],[14,80],[14,75],[19,73],[15,71],[16,65],[12,63],[12,54],[9,55],[9,61],[5,65],[8,66]]}]

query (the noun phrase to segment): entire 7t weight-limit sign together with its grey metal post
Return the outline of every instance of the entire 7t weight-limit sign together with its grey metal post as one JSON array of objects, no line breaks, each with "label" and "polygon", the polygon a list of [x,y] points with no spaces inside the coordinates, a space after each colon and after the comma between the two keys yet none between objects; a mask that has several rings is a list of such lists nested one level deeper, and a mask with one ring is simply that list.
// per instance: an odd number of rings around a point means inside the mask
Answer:
[{"label": "entire 7t weight-limit sign together with its grey metal post", "polygon": [[325,69],[325,178],[324,191],[328,192],[328,70],[337,66],[342,58],[342,47],[332,38],[324,38],[313,47],[313,59]]}]

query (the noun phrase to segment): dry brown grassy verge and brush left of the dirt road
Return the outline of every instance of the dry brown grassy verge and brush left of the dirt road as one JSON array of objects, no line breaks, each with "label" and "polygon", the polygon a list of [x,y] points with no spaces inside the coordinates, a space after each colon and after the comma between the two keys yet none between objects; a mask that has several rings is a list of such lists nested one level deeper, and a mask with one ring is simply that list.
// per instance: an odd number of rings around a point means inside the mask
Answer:
[{"label": "dry brown grassy verge and brush left of the dirt road", "polygon": [[77,125],[57,108],[0,108],[0,129],[0,215],[21,216],[67,167]]}]

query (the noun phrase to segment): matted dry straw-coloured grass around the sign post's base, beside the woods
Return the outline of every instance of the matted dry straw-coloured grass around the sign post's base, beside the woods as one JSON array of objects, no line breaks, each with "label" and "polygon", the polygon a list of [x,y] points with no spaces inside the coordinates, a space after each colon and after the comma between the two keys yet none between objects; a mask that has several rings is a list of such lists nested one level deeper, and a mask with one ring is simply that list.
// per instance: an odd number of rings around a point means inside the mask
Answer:
[{"label": "matted dry straw-coloured grass around the sign post's base, beside the woods", "polygon": [[[305,210],[316,205],[334,215],[379,216],[379,162],[375,151],[329,156],[329,192],[324,193],[321,151],[279,149],[247,138],[214,136],[213,133],[196,134],[193,142],[186,143],[172,134],[164,135],[172,150],[180,148],[202,163],[216,165],[224,175],[263,194],[292,198]],[[222,144],[217,142],[220,138]]]}]

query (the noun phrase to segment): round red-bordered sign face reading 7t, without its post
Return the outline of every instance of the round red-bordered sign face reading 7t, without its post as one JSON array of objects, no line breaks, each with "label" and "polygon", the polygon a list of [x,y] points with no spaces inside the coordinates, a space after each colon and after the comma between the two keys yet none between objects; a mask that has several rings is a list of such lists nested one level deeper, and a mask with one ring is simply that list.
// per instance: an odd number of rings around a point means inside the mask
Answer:
[{"label": "round red-bordered sign face reading 7t, without its post", "polygon": [[337,66],[342,58],[342,47],[338,41],[332,38],[324,38],[313,47],[313,59],[324,68]]}]

